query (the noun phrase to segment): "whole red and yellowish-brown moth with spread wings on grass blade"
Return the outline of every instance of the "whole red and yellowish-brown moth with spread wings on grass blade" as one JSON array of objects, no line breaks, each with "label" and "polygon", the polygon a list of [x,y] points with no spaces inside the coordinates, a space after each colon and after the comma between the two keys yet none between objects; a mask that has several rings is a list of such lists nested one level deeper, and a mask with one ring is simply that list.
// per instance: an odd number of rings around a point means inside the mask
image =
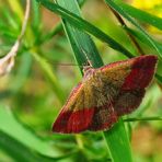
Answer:
[{"label": "whole red and yellowish-brown moth with spread wings on grass blade", "polygon": [[78,134],[109,129],[135,111],[151,82],[157,56],[117,61],[84,72],[53,125],[54,132]]}]

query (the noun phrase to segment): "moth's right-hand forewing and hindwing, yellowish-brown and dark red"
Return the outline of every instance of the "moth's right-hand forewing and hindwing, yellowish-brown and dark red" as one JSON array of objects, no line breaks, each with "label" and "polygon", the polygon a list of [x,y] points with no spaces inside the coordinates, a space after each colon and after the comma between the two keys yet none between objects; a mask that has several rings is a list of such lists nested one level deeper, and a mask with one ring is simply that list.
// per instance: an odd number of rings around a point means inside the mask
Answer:
[{"label": "moth's right-hand forewing and hindwing, yellowish-brown and dark red", "polygon": [[103,69],[107,73],[107,79],[118,89],[118,95],[114,101],[118,116],[128,114],[139,106],[144,89],[153,78],[157,60],[157,56],[148,55],[115,62]]}]

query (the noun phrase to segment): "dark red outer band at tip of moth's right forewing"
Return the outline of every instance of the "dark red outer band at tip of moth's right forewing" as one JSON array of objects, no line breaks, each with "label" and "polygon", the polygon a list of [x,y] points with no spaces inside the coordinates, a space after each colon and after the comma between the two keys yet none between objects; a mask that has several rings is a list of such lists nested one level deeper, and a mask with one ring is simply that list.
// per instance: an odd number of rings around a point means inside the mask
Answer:
[{"label": "dark red outer band at tip of moth's right forewing", "polygon": [[144,89],[153,78],[157,56],[142,56],[135,59],[131,72],[125,79],[121,90]]}]

